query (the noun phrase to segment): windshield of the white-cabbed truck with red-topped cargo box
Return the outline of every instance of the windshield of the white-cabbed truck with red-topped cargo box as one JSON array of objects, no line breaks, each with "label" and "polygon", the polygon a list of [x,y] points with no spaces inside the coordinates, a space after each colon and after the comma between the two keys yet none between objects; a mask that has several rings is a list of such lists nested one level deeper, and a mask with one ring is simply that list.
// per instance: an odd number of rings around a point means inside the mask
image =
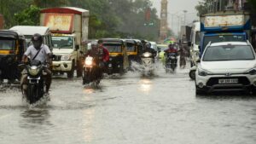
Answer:
[{"label": "windshield of the white-cabbed truck with red-topped cargo box", "polygon": [[52,37],[55,48],[73,49],[73,37]]}]

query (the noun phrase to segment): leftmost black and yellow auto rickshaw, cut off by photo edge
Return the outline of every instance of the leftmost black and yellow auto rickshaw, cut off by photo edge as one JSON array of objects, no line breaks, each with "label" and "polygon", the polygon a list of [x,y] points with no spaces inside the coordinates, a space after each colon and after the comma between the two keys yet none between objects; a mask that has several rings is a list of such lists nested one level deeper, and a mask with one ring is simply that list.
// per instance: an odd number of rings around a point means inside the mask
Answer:
[{"label": "leftmost black and yellow auto rickshaw, cut off by photo edge", "polygon": [[26,49],[25,37],[11,30],[0,31],[0,83],[7,79],[9,83],[20,79],[18,65]]}]

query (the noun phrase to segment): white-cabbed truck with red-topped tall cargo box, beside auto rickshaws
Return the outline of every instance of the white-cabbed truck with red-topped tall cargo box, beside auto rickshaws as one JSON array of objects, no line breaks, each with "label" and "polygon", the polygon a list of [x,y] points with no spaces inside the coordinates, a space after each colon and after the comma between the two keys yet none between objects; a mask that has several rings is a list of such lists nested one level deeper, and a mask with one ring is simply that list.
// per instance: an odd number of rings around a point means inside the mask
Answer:
[{"label": "white-cabbed truck with red-topped tall cargo box, beside auto rickshaws", "polygon": [[43,9],[40,25],[49,26],[53,43],[55,74],[67,72],[67,78],[82,76],[85,42],[88,40],[89,11],[74,7]]}]

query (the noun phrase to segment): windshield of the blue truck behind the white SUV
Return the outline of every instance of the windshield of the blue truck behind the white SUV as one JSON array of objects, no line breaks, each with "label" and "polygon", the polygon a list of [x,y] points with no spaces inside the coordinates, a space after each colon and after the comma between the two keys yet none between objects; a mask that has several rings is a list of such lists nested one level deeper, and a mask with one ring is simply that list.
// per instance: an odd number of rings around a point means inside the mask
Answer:
[{"label": "windshield of the blue truck behind the white SUV", "polygon": [[245,42],[246,38],[243,35],[218,35],[218,36],[206,36],[204,38],[203,49],[207,47],[209,42]]}]

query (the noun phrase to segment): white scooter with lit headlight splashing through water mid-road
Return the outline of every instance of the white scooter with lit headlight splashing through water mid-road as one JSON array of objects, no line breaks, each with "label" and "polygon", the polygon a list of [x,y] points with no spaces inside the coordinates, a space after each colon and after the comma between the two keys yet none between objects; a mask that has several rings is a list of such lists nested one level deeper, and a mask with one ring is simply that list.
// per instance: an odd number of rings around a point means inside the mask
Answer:
[{"label": "white scooter with lit headlight splashing through water mid-road", "polygon": [[141,56],[143,75],[153,75],[154,74],[154,55],[149,52],[143,53]]}]

